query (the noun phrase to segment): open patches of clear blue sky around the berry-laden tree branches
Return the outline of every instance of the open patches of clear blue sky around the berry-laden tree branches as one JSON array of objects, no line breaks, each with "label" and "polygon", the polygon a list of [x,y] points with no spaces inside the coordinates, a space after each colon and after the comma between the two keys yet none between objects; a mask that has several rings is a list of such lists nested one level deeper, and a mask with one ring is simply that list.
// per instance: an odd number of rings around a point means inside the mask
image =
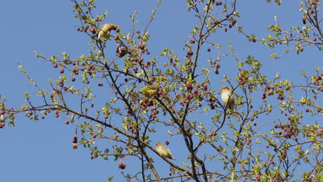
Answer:
[{"label": "open patches of clear blue sky around the berry-laden tree branches", "polygon": [[[128,15],[138,10],[137,29],[142,30],[156,2],[97,1],[96,12],[99,14],[108,9],[106,23],[115,23],[121,26],[122,32],[130,32],[132,24]],[[186,1],[164,0],[162,3],[155,16],[156,20],[148,30],[151,35],[148,45],[150,52],[158,55],[161,48],[168,46],[177,50],[178,54],[184,54],[182,42],[189,40],[188,35],[195,26],[196,19],[186,11]],[[7,97],[12,107],[26,103],[23,92],[35,91],[19,71],[17,62],[26,68],[30,77],[41,87],[48,88],[47,78],[57,78],[57,70],[37,59],[33,51],[37,50],[45,57],[68,52],[73,58],[89,52],[89,38],[86,34],[77,32],[79,19],[73,18],[71,6],[70,1],[63,0],[1,0],[0,94]],[[238,9],[242,15],[242,20],[238,19],[238,23],[248,33],[264,36],[268,33],[268,22],[274,23],[274,16],[279,17],[282,24],[302,25],[302,14],[298,12],[297,1],[283,2],[282,6],[268,4],[265,0],[238,1]],[[305,48],[298,56],[293,50],[282,59],[274,60],[269,55],[271,52],[282,53],[281,48],[269,50],[260,43],[248,42],[235,30],[229,31],[230,33],[219,37],[212,37],[212,40],[221,43],[223,47],[226,47],[228,41],[232,41],[242,60],[249,54],[255,55],[256,59],[264,61],[263,72],[271,78],[275,77],[276,72],[281,72],[285,79],[299,79],[300,71],[313,72],[314,66],[322,66],[322,53],[315,48]],[[224,51],[228,52],[226,48]],[[220,74],[235,76],[236,72],[230,69],[230,62],[221,64],[223,69]],[[90,151],[82,147],[72,149],[74,130],[75,125],[65,125],[63,118],[48,117],[35,123],[26,117],[18,117],[15,127],[6,126],[0,130],[0,181],[107,181],[108,176],[112,175],[119,179],[117,163],[102,159],[91,160]],[[171,147],[175,158],[180,156],[176,145],[170,145]],[[126,170],[134,165],[127,159],[126,163]],[[165,165],[161,159],[157,160],[157,164]]]}]

